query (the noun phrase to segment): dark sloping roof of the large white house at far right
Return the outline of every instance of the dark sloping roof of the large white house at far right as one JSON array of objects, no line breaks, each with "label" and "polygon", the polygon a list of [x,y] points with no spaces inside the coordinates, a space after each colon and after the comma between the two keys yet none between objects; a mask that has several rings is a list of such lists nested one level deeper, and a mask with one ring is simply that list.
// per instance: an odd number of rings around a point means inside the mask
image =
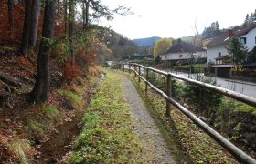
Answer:
[{"label": "dark sloping roof of the large white house at far right", "polygon": [[[233,36],[243,36],[246,35],[249,31],[256,27],[256,24],[251,24],[250,26],[238,26],[231,29]],[[212,46],[226,46],[229,43],[229,32],[230,30],[220,32],[219,36],[212,38],[212,41],[207,45],[208,47]]]}]

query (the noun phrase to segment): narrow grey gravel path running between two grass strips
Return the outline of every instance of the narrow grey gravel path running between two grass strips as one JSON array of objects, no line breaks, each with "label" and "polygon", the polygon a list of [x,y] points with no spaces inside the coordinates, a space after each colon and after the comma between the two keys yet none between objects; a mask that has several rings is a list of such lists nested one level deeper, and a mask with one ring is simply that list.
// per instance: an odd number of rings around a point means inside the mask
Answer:
[{"label": "narrow grey gravel path running between two grass strips", "polygon": [[134,119],[133,129],[144,147],[144,160],[147,163],[176,163],[167,149],[164,138],[153,118],[149,115],[144,102],[129,77],[123,76],[123,88],[127,104]]}]

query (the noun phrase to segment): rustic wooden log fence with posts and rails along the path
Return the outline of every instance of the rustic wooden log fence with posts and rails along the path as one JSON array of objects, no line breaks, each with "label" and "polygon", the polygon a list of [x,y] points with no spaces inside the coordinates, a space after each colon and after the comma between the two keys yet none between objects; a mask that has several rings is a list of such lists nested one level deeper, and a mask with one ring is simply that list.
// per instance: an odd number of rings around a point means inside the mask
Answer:
[{"label": "rustic wooden log fence with posts and rails along the path", "polygon": [[[123,64],[119,66],[120,69],[123,69],[123,71],[128,70],[129,73],[131,71],[134,72],[135,76],[138,77],[138,82],[140,83],[142,80],[145,83],[145,92],[147,92],[148,87],[151,87],[153,90],[155,90],[156,93],[158,93],[161,97],[164,97],[166,100],[166,117],[170,116],[171,111],[171,105],[178,108],[184,115],[187,116],[187,118],[190,118],[199,128],[203,129],[208,135],[215,139],[219,144],[229,151],[230,154],[232,154],[236,159],[238,159],[240,162],[243,163],[250,163],[255,164],[256,160],[252,159],[249,155],[247,155],[245,152],[237,148],[235,145],[233,145],[231,142],[229,142],[228,139],[222,137],[217,131],[215,131],[213,128],[210,128],[205,122],[203,122],[200,118],[197,118],[196,115],[194,115],[192,112],[187,110],[187,108],[183,107],[181,104],[176,102],[172,98],[172,78],[175,77],[179,80],[186,81],[190,84],[197,85],[199,87],[208,88],[210,90],[213,90],[215,92],[218,92],[221,95],[225,95],[227,97],[231,97],[233,99],[236,99],[240,102],[246,103],[248,105],[251,105],[252,107],[256,107],[256,99],[252,97],[245,96],[243,94],[234,92],[229,89],[225,89],[222,87],[216,87],[207,83],[203,83],[197,80],[193,80],[186,77],[179,77],[172,73],[167,73],[165,71],[161,71],[152,67],[144,67],[142,65],[138,64]],[[151,72],[150,72],[151,71]],[[149,78],[151,74],[159,74],[158,77],[165,77],[166,78],[166,84],[165,89],[166,92],[163,90],[155,87],[151,82],[149,82]]]}]

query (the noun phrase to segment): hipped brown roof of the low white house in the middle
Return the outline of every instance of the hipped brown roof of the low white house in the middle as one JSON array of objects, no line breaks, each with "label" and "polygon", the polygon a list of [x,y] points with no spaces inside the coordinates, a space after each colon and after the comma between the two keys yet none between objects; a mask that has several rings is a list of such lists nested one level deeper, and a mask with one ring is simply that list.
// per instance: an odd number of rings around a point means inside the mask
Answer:
[{"label": "hipped brown roof of the low white house in the middle", "polygon": [[206,51],[206,50],[200,46],[194,46],[183,41],[178,41],[174,46],[167,49],[163,54],[180,53],[180,52],[194,53],[198,51]]}]

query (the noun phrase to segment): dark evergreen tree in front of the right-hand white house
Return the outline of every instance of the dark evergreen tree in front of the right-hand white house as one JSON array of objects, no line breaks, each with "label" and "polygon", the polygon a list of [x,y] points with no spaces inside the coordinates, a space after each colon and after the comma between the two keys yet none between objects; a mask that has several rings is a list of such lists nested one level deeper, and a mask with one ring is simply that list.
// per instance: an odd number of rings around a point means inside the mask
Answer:
[{"label": "dark evergreen tree in front of the right-hand white house", "polygon": [[234,64],[242,64],[246,62],[248,49],[244,44],[240,43],[238,37],[231,38],[227,49],[229,54],[232,56]]}]

